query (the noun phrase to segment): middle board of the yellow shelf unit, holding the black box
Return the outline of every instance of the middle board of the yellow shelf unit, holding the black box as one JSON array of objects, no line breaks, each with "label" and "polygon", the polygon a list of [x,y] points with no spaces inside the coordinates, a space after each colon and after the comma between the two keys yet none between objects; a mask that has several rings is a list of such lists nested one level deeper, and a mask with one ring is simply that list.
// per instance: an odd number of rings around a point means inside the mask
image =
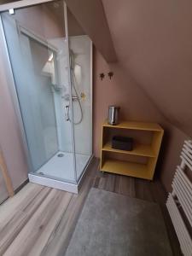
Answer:
[{"label": "middle board of the yellow shelf unit, holding the black box", "polygon": [[145,157],[156,157],[156,154],[154,153],[153,148],[151,148],[150,145],[143,145],[139,143],[133,144],[133,150],[126,151],[126,150],[120,150],[112,148],[111,143],[108,142],[104,145],[102,148],[102,151],[108,151],[113,153],[119,153],[119,154],[133,154],[133,155],[139,155],[139,156],[145,156]]}]

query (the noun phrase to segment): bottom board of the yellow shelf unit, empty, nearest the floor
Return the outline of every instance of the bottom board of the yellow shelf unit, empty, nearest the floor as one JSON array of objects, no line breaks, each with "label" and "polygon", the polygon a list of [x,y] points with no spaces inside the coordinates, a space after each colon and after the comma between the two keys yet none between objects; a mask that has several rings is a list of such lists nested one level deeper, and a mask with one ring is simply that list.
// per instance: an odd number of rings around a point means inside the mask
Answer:
[{"label": "bottom board of the yellow shelf unit, empty, nearest the floor", "polygon": [[104,160],[101,171],[113,172],[131,177],[152,179],[147,165],[127,162],[123,160]]}]

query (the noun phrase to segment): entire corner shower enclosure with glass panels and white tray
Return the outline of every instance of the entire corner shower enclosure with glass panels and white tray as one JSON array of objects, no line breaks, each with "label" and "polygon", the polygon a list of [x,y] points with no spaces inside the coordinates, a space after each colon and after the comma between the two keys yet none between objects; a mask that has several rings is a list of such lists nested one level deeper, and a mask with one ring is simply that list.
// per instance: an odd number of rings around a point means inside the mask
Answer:
[{"label": "entire corner shower enclosure with glass panels and white tray", "polygon": [[29,180],[77,193],[92,156],[90,38],[64,1],[5,10],[1,28]]}]

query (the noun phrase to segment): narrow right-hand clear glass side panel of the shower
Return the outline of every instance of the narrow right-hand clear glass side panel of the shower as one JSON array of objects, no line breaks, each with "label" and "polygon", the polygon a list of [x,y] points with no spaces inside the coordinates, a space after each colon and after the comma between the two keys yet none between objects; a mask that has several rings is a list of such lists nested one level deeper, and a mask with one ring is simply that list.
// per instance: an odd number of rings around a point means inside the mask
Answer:
[{"label": "narrow right-hand clear glass side panel of the shower", "polygon": [[67,9],[73,99],[73,129],[78,179],[92,155],[92,43]]}]

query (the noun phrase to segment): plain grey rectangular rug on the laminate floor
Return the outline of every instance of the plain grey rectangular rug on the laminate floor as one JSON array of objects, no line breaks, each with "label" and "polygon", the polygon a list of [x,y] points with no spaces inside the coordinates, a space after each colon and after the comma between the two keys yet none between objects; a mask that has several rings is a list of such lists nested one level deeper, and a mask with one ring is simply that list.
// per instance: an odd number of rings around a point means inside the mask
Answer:
[{"label": "plain grey rectangular rug on the laminate floor", "polygon": [[90,189],[67,256],[172,255],[160,207]]}]

